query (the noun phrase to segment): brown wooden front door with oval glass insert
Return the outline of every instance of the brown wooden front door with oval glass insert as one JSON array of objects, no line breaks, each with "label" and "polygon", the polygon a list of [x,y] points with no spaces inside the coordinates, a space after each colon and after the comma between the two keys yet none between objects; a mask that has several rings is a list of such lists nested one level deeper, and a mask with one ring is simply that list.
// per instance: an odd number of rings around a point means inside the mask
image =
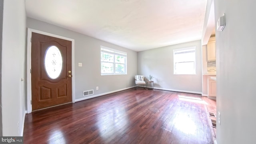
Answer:
[{"label": "brown wooden front door with oval glass insert", "polygon": [[72,102],[72,42],[32,32],[32,110]]}]

